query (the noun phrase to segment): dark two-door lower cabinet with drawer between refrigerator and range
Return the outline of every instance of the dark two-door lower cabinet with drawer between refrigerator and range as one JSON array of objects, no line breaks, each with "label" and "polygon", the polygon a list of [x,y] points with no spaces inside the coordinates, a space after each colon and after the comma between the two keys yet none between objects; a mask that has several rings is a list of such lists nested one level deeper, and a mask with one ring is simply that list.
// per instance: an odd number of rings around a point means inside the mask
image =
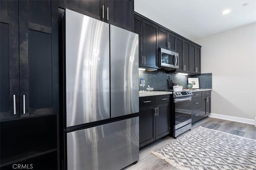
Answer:
[{"label": "dark two-door lower cabinet with drawer between refrigerator and range", "polygon": [[170,134],[170,95],[140,97],[139,117],[140,148]]}]

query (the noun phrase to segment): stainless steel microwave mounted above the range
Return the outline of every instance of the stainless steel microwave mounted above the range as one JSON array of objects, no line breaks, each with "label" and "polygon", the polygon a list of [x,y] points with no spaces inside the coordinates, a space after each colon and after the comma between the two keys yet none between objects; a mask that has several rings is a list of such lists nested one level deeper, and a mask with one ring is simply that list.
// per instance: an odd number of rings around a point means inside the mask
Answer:
[{"label": "stainless steel microwave mounted above the range", "polygon": [[179,68],[179,53],[159,48],[159,66],[164,68],[171,68],[167,70],[173,70]]}]

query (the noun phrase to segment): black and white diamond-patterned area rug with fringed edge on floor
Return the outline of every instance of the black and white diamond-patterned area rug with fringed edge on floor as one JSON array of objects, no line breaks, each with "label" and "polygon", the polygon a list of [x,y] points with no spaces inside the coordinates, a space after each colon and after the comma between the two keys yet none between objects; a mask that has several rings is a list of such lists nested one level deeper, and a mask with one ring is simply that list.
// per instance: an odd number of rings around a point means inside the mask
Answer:
[{"label": "black and white diamond-patterned area rug with fringed edge on floor", "polygon": [[256,170],[256,140],[204,127],[151,153],[180,170]]}]

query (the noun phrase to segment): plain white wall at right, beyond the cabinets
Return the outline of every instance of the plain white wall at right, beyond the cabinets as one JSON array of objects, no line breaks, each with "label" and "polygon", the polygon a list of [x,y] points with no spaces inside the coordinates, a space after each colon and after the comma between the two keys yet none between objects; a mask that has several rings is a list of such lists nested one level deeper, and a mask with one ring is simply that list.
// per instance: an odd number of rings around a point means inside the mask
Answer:
[{"label": "plain white wall at right, beyond the cabinets", "polygon": [[211,112],[255,119],[256,23],[195,42],[202,45],[201,72],[212,72]]}]

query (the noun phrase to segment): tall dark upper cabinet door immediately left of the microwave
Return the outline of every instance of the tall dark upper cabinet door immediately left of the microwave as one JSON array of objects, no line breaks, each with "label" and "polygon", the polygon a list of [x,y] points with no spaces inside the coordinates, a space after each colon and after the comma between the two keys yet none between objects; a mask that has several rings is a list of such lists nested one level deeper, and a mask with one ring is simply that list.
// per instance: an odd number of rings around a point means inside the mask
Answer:
[{"label": "tall dark upper cabinet door immediately left of the microwave", "polygon": [[147,20],[142,25],[142,43],[143,66],[158,68],[157,25]]}]

